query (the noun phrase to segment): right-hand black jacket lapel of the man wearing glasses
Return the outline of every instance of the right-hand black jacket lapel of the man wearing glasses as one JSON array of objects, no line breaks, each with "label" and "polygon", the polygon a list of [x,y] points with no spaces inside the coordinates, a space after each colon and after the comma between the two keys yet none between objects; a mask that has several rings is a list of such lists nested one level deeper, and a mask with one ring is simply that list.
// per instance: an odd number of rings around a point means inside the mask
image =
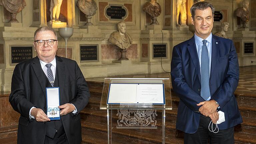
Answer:
[{"label": "right-hand black jacket lapel of the man wearing glasses", "polygon": [[58,56],[56,56],[56,70],[58,71],[58,81],[59,81],[59,87],[60,87],[60,104],[63,97],[63,90],[65,85],[65,64],[62,61],[62,59]]}]

